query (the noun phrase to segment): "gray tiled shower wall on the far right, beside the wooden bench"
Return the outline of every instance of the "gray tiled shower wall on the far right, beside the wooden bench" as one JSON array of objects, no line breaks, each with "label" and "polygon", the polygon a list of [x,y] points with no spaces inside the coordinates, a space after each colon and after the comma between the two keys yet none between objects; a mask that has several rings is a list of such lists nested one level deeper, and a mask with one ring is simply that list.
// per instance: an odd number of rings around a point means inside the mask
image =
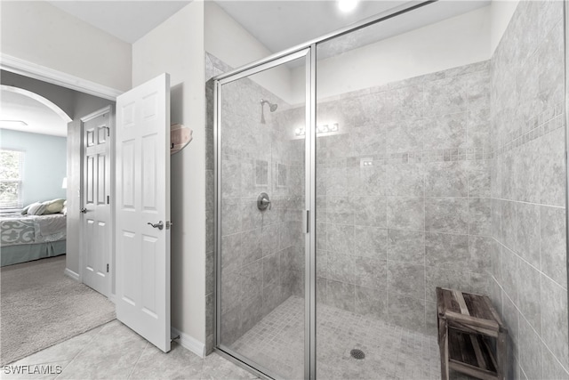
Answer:
[{"label": "gray tiled shower wall on the far right, beside the wooden bench", "polygon": [[492,60],[491,292],[514,378],[569,378],[563,35],[563,2],[520,2]]}]

